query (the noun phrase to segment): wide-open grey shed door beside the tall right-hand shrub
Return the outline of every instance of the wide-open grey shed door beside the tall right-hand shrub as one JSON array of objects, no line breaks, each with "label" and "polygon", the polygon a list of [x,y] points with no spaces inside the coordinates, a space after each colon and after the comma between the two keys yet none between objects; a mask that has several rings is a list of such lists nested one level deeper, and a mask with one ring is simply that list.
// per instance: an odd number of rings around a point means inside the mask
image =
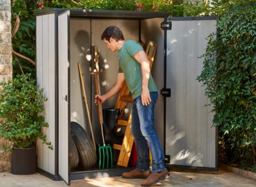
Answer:
[{"label": "wide-open grey shed door beside the tall right-hand shrub", "polygon": [[205,105],[202,83],[202,58],[207,37],[216,32],[216,20],[173,17],[167,30],[165,153],[171,166],[217,170],[217,130],[212,127],[213,113]]}]

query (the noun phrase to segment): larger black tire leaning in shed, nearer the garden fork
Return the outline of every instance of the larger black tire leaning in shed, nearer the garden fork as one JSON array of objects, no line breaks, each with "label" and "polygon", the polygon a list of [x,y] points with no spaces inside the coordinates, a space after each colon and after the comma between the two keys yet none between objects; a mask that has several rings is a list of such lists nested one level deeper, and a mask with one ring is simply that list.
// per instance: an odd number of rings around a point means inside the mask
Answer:
[{"label": "larger black tire leaning in shed, nearer the garden fork", "polygon": [[78,149],[83,170],[92,168],[96,164],[97,155],[89,135],[76,122],[70,123],[70,133]]}]

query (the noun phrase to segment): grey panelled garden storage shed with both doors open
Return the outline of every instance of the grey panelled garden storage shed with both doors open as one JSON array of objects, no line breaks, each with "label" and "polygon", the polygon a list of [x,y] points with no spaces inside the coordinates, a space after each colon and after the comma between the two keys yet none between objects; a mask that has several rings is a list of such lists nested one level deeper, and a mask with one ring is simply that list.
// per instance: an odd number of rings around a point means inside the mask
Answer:
[{"label": "grey panelled garden storage shed with both doors open", "polygon": [[[48,9],[36,12],[37,83],[48,98],[44,129],[54,150],[37,141],[37,166],[54,180],[121,175],[124,167],[91,168],[70,172],[70,122],[90,132],[81,92],[78,63],[87,90],[92,126],[101,143],[98,113],[94,106],[93,48],[98,47],[101,92],[115,82],[118,56],[107,51],[101,33],[118,26],[125,39],[156,41],[152,74],[159,90],[156,130],[166,155],[166,166],[217,170],[217,131],[213,115],[204,107],[204,88],[195,79],[209,34],[216,32],[216,17],[169,18],[167,12]],[[170,91],[171,90],[171,91]],[[116,97],[103,103],[111,108]]]}]

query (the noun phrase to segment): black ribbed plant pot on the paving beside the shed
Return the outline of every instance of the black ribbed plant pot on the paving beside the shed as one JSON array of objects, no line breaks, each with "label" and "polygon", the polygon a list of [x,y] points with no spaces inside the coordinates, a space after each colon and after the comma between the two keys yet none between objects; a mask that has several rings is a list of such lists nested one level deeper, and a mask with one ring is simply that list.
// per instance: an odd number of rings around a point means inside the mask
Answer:
[{"label": "black ribbed plant pot on the paving beside the shed", "polygon": [[36,168],[36,146],[31,148],[12,148],[12,174],[30,175],[36,173]]}]

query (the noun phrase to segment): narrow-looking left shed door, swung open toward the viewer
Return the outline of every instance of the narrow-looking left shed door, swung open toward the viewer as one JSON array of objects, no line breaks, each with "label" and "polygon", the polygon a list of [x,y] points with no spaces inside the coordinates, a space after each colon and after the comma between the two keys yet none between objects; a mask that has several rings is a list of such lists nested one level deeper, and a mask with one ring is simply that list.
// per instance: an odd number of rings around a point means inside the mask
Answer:
[{"label": "narrow-looking left shed door, swung open toward the viewer", "polygon": [[59,44],[59,175],[70,184],[69,169],[69,11],[58,16]]}]

